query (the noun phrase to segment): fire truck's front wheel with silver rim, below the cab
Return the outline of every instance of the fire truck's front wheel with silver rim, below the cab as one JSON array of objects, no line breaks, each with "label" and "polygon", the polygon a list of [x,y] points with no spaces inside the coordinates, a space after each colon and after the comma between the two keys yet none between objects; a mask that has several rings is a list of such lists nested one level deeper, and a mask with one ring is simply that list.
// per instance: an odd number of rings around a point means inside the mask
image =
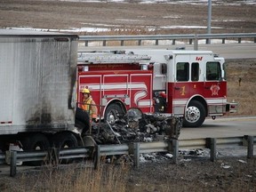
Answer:
[{"label": "fire truck's front wheel with silver rim, below the cab", "polygon": [[186,109],[183,126],[199,127],[204,123],[206,111],[204,105],[197,100],[191,100]]}]

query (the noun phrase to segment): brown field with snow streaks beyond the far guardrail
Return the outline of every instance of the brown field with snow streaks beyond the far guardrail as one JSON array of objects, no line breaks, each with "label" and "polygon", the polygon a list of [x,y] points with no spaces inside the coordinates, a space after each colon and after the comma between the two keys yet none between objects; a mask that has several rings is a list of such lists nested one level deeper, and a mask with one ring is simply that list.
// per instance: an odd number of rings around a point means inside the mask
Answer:
[{"label": "brown field with snow streaks beyond the far guardrail", "polygon": [[[156,28],[153,34],[206,33],[207,4],[127,4],[1,0],[0,28]],[[136,1],[130,1],[136,2]],[[255,32],[256,6],[214,4],[212,33]],[[223,1],[225,2],[225,1]],[[230,1],[227,1],[230,3]],[[190,26],[190,28],[175,28]],[[199,28],[194,28],[199,26]]]}]

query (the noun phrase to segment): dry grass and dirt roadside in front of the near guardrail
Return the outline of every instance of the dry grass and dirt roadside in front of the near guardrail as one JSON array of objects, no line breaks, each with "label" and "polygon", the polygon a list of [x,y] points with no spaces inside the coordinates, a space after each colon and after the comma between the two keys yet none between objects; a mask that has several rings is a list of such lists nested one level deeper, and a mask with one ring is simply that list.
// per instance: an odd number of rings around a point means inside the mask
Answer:
[{"label": "dry grass and dirt roadside in front of the near guardrail", "polygon": [[[230,168],[221,168],[224,163]],[[17,181],[14,188],[6,185],[1,191],[255,191],[255,163],[255,159],[246,160],[244,164],[237,159],[214,163],[204,160],[183,164],[152,163],[141,165],[135,172],[132,171],[132,164],[101,164],[99,170],[81,164],[69,164],[58,169],[48,165],[40,172],[23,173],[14,178]]]}]

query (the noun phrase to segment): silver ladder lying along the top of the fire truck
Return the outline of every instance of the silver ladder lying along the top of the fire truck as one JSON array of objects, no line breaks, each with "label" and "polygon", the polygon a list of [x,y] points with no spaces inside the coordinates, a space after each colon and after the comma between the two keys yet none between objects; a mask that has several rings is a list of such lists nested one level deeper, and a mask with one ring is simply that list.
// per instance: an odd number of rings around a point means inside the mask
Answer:
[{"label": "silver ladder lying along the top of the fire truck", "polygon": [[151,57],[148,55],[125,53],[123,51],[113,52],[78,52],[78,64],[104,64],[104,63],[140,63],[148,64]]}]

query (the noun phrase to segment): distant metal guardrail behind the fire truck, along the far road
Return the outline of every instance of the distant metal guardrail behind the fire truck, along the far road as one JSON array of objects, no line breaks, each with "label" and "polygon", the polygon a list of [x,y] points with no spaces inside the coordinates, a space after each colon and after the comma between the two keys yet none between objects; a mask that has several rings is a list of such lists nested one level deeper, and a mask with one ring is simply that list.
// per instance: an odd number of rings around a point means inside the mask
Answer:
[{"label": "distant metal guardrail behind the fire truck, along the far road", "polygon": [[[124,41],[137,41],[137,45],[142,45],[142,41],[155,41],[155,45],[160,40],[172,40],[172,45],[176,40],[188,40],[189,44],[194,44],[197,50],[198,40],[205,39],[205,44],[211,44],[211,39],[221,39],[221,44],[225,44],[228,39],[237,39],[237,43],[241,44],[242,39],[251,39],[256,43],[256,33],[236,33],[236,34],[188,34],[188,35],[148,35],[148,36],[79,36],[79,41],[84,42],[85,46],[89,46],[89,42],[103,42],[103,46],[107,46],[109,41],[119,41],[124,46]],[[210,41],[209,41],[210,40]]]}]

